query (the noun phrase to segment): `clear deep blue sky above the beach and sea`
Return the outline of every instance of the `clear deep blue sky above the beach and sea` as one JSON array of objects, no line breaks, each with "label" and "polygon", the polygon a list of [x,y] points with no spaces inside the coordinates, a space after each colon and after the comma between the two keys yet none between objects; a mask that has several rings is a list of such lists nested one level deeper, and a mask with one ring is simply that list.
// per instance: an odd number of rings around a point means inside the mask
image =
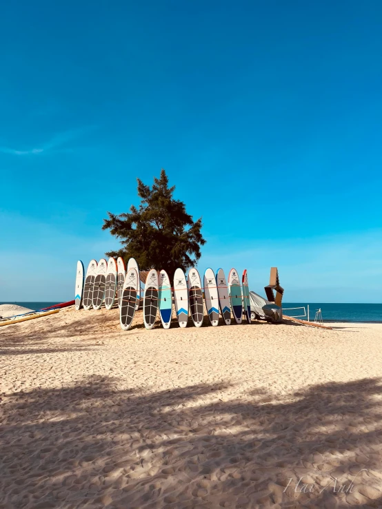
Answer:
[{"label": "clear deep blue sky above the beach and sea", "polygon": [[4,4],[0,301],[72,298],[164,167],[202,271],[382,302],[381,23],[379,0]]}]

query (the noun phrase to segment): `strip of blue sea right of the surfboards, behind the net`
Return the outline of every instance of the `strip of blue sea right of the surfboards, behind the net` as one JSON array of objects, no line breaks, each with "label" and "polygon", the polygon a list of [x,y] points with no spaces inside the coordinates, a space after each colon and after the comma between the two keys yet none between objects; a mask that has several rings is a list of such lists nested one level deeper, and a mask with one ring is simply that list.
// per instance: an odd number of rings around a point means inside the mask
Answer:
[{"label": "strip of blue sea right of the surfboards, behind the net", "polygon": [[[324,322],[382,322],[382,304],[330,304],[330,303],[296,303],[283,302],[283,309],[288,307],[307,306],[309,304],[310,320],[314,320],[316,310],[321,308]],[[302,315],[303,309],[284,311],[285,315]],[[306,318],[301,317],[301,320]]]}]

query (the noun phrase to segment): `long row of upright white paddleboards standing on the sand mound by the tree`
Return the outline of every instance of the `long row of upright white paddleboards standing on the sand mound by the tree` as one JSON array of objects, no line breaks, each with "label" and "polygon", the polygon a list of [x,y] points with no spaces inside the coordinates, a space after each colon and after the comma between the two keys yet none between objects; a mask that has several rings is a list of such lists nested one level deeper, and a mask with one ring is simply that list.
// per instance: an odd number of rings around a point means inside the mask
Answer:
[{"label": "long row of upright white paddleboards standing on the sand mound by the tree", "polygon": [[75,289],[77,310],[81,308],[81,304],[83,309],[91,307],[100,309],[103,302],[106,309],[111,309],[117,298],[121,328],[127,331],[132,324],[135,311],[139,309],[141,293],[143,293],[143,322],[146,329],[152,329],[158,311],[163,327],[170,328],[173,298],[177,320],[181,327],[187,326],[189,315],[194,326],[202,325],[203,301],[213,326],[219,324],[219,311],[225,324],[231,323],[231,313],[238,324],[241,324],[243,315],[248,323],[251,322],[246,269],[243,271],[241,282],[237,270],[231,269],[228,283],[223,269],[219,269],[216,274],[212,269],[207,269],[203,277],[203,286],[197,269],[190,269],[187,278],[182,269],[177,269],[174,273],[173,287],[166,271],[161,270],[158,273],[152,269],[148,272],[142,292],[139,267],[134,258],[130,258],[127,268],[122,258],[118,258],[117,262],[114,258],[110,258],[108,262],[102,258],[99,263],[91,260],[85,277],[83,263],[81,260],[77,262]]}]

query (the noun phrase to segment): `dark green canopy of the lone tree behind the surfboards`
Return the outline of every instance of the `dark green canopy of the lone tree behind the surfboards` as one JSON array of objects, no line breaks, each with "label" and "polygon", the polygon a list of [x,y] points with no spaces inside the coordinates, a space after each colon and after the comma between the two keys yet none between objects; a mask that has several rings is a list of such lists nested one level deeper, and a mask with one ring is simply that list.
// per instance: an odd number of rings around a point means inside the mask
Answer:
[{"label": "dark green canopy of the lone tree behind the surfboards", "polygon": [[132,205],[130,212],[119,215],[108,212],[103,220],[102,229],[110,229],[122,245],[106,255],[121,256],[125,262],[135,258],[141,270],[165,269],[172,278],[177,267],[185,271],[201,257],[205,244],[201,218],[194,222],[185,204],[172,197],[175,186],[168,187],[164,169],[160,178],[154,177],[152,187],[139,178],[137,183],[139,207]]}]

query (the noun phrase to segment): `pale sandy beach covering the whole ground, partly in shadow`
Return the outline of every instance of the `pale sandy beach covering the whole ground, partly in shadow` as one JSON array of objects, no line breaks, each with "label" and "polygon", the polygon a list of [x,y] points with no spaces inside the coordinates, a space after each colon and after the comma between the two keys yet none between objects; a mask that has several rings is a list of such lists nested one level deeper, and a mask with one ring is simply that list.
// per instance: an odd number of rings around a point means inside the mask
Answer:
[{"label": "pale sandy beach covering the whole ground, partly in shadow", "polygon": [[0,328],[1,508],[382,506],[382,325],[134,320]]}]

